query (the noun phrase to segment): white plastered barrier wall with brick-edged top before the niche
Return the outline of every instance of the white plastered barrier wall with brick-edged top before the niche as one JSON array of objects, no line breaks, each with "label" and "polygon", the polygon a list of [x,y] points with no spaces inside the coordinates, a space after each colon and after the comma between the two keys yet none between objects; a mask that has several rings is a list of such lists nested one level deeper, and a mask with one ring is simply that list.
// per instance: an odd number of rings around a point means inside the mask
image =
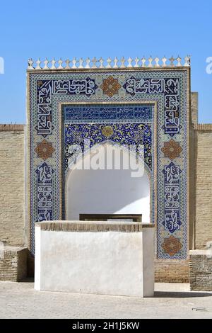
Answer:
[{"label": "white plastered barrier wall with brick-edged top before the niche", "polygon": [[139,222],[37,223],[35,289],[153,297],[153,234]]}]

